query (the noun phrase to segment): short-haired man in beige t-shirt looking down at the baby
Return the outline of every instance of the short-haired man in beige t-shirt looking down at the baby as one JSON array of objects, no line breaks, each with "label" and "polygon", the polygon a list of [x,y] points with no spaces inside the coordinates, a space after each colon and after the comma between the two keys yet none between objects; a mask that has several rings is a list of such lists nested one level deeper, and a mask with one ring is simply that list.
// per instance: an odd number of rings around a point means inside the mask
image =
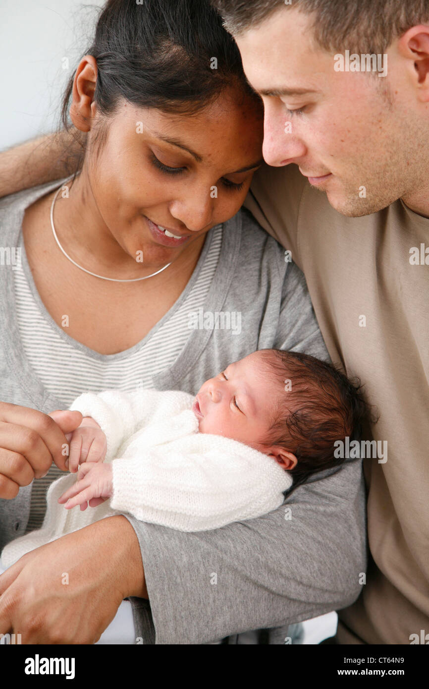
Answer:
[{"label": "short-haired man in beige t-shirt looking down at the baby", "polygon": [[416,643],[429,632],[429,5],[214,4],[265,107],[273,167],[247,205],[304,270],[331,358],[379,413],[363,454],[370,564],[337,642]]}]

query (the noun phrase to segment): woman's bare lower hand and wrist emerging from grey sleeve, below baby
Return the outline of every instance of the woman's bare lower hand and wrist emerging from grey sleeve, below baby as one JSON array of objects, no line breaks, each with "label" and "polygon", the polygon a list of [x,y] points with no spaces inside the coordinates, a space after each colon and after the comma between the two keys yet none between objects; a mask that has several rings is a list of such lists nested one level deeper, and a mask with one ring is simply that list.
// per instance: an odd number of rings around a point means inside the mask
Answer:
[{"label": "woman's bare lower hand and wrist emerging from grey sleeve, below baby", "polygon": [[27,553],[0,576],[0,634],[94,644],[127,596],[147,598],[140,546],[122,515]]}]

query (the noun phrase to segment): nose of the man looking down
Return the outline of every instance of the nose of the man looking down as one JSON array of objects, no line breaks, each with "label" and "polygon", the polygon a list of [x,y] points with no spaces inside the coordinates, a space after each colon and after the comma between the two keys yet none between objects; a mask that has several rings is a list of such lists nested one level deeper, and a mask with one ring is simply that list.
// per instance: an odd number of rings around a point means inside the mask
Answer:
[{"label": "nose of the man looking down", "polygon": [[295,125],[290,116],[288,118],[284,107],[265,105],[262,154],[266,163],[281,167],[303,158],[306,147],[294,129]]}]

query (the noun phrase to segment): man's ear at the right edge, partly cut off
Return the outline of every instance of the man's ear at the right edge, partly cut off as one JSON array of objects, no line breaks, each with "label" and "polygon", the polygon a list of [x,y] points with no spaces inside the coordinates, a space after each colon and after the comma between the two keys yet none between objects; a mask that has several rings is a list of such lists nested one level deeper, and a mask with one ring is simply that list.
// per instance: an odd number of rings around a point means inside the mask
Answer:
[{"label": "man's ear at the right edge, partly cut off", "polygon": [[429,26],[421,24],[408,29],[398,42],[401,56],[412,60],[412,76],[419,89],[419,100],[429,101]]}]

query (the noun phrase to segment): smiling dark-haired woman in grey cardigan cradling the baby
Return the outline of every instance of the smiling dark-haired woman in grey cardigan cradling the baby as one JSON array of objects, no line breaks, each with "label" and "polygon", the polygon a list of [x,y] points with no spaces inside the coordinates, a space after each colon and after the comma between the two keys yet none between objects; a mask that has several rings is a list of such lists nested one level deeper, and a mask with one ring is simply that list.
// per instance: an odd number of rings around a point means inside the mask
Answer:
[{"label": "smiling dark-haired woman in grey cardigan cradling the baby", "polygon": [[[83,390],[194,393],[255,349],[326,356],[302,274],[238,212],[261,162],[262,112],[208,3],[107,3],[70,116],[87,132],[79,176],[1,205],[2,240],[23,260],[0,275],[2,544],[41,523],[64,434],[80,422],[47,413]],[[239,314],[240,329],[206,318],[216,313]],[[332,496],[323,527],[317,493]],[[0,577],[0,633],[92,643],[129,596],[144,643],[213,642],[344,606],[359,587],[336,560],[364,566],[361,497],[352,462],[297,490],[291,522],[280,508],[194,535],[109,517]]]}]

